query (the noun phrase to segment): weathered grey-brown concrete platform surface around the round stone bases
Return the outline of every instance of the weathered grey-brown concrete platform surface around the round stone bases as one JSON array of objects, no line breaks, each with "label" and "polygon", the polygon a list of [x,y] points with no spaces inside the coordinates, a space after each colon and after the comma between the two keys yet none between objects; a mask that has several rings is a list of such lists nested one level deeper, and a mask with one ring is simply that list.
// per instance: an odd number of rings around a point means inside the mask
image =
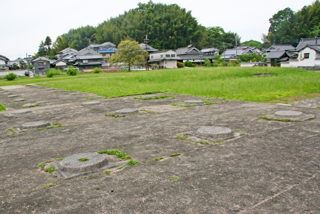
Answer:
[{"label": "weathered grey-brown concrete platform surface around the round stone bases", "polygon": [[[1,87],[6,89],[6,87]],[[211,99],[219,104],[181,107],[175,99],[99,99],[90,93],[18,86],[7,89],[38,103],[32,114],[7,117],[23,103],[0,93],[0,212],[2,213],[319,213],[320,109]],[[156,95],[163,95],[158,93]],[[84,101],[85,100],[85,101]],[[244,107],[244,108],[243,108]],[[137,108],[148,114],[106,117]],[[303,122],[258,119],[281,110],[313,114]],[[29,121],[61,127],[11,135]],[[222,126],[248,135],[221,143],[177,139],[183,132]],[[83,152],[121,149],[133,166],[62,179],[38,163]],[[180,153],[178,156],[170,156]],[[154,161],[155,158],[163,159]],[[178,177],[177,181],[170,177]],[[43,188],[48,183],[55,186]]]}]

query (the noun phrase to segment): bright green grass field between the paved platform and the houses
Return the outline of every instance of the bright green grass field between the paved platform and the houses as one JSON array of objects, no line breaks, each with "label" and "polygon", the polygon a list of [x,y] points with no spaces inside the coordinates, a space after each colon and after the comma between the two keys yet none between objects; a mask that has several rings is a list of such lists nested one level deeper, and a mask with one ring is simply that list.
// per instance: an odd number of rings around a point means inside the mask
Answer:
[{"label": "bright green grass field between the paved platform and the houses", "polygon": [[[252,73],[272,72],[255,77]],[[0,81],[5,85],[47,81],[43,86],[96,93],[106,97],[167,92],[255,102],[288,101],[290,97],[316,96],[320,73],[292,68],[191,68],[100,73],[53,78]],[[41,85],[41,84],[40,84]]]}]

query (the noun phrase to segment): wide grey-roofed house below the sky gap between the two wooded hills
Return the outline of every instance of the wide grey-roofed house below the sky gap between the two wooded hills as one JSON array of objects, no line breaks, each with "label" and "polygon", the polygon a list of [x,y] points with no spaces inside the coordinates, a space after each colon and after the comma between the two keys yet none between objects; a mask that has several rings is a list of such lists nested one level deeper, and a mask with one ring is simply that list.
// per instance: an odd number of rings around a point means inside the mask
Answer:
[{"label": "wide grey-roofed house below the sky gap between the two wooded hills", "polygon": [[244,55],[244,54],[263,54],[262,51],[255,47],[249,46],[240,46],[237,48],[226,49],[222,54],[220,59],[225,59],[225,61],[234,62],[237,60],[237,56]]}]

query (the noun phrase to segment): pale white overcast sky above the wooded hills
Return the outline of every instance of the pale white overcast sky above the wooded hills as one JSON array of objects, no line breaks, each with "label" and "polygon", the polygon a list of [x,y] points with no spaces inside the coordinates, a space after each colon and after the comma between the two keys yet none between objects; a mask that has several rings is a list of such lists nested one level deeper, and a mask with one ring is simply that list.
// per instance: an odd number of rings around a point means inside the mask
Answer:
[{"label": "pale white overcast sky above the wooded hills", "polygon": [[[136,8],[147,0],[10,0],[1,1],[0,55],[14,60],[33,55],[46,36],[56,37],[71,28],[99,23]],[[311,0],[153,0],[153,3],[177,4],[192,11],[199,24],[220,26],[224,31],[237,32],[241,42],[260,41],[269,28],[268,19],[279,10],[300,10]],[[149,38],[152,39],[152,38]]]}]

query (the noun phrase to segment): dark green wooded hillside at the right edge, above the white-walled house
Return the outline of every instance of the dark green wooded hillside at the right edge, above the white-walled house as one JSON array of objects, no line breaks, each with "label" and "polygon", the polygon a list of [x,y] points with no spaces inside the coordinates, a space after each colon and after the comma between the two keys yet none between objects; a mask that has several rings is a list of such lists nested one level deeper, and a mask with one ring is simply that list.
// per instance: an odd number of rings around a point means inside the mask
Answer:
[{"label": "dark green wooded hillside at the right edge, above the white-walled house", "polygon": [[290,44],[294,47],[300,38],[314,38],[320,25],[318,0],[293,13],[290,8],[279,11],[269,19],[268,35],[262,35],[264,46]]}]

